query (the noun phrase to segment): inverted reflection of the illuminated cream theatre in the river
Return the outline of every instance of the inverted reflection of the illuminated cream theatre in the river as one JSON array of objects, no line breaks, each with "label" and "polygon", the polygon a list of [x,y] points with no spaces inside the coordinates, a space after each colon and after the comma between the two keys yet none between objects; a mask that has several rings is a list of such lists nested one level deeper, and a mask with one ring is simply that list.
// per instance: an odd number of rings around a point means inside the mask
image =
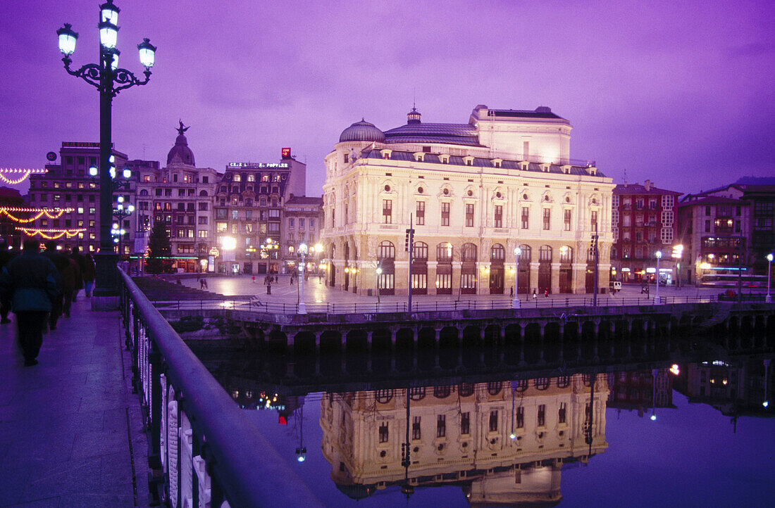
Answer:
[{"label": "inverted reflection of the illuminated cream theatre in the river", "polygon": [[321,402],[322,452],[336,485],[356,499],[408,482],[461,486],[472,505],[556,503],[561,465],[608,446],[605,375],[596,376],[593,411],[591,380],[415,387],[408,417],[406,390],[330,393]]}]

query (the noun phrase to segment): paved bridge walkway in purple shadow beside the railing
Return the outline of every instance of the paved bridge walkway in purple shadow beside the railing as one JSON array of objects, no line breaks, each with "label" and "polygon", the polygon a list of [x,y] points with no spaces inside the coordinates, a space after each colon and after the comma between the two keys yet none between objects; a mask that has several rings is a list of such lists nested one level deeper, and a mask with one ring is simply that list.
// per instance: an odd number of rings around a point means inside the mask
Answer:
[{"label": "paved bridge walkway in purple shadow beside the railing", "polygon": [[79,298],[32,367],[22,366],[15,323],[0,325],[0,506],[148,506],[119,313],[90,309]]}]

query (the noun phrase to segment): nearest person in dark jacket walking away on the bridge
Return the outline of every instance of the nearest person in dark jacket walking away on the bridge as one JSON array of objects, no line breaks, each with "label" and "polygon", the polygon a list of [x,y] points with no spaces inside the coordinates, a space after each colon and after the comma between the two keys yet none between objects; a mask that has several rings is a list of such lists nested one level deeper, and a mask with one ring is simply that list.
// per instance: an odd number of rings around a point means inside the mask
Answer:
[{"label": "nearest person in dark jacket walking away on the bridge", "polygon": [[26,239],[21,256],[0,272],[0,299],[11,302],[26,367],[38,363],[46,314],[60,293],[57,267],[40,255],[38,245],[36,240]]}]

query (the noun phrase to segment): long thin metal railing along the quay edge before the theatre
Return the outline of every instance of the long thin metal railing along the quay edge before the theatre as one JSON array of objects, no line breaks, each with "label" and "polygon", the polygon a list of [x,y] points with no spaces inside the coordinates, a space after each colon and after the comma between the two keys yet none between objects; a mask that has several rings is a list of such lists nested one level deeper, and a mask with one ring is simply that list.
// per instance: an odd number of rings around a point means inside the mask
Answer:
[{"label": "long thin metal railing along the quay edge before the theatre", "polygon": [[[660,297],[659,305],[673,304],[710,304],[718,301],[717,295]],[[262,300],[157,300],[153,302],[160,310],[176,311],[249,311],[267,314],[298,314],[298,304],[267,302]],[[654,304],[653,297],[598,297],[598,308],[601,307],[642,307]],[[307,314],[381,314],[408,312],[405,301],[364,302],[353,304],[307,303]],[[592,308],[592,297],[569,295],[568,297],[527,298],[520,300],[520,309],[533,308]],[[512,308],[512,299],[508,300],[436,300],[430,302],[415,301],[412,312],[444,312],[444,311],[494,311]],[[516,309],[518,311],[518,309]],[[605,311],[604,311],[605,312]]]}]

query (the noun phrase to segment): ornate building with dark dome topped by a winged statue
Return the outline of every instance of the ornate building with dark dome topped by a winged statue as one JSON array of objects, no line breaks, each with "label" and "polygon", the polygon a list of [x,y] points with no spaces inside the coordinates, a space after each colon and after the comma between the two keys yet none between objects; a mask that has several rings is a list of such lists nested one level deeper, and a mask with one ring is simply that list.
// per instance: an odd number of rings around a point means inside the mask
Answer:
[{"label": "ornate building with dark dome topped by a winged statue", "polygon": [[170,237],[173,267],[184,272],[203,272],[212,247],[212,196],[219,177],[212,168],[195,166],[184,131],[177,128],[177,139],[167,154],[167,166],[140,166],[137,169],[135,216],[138,235],[135,250],[143,255],[148,245],[151,221],[162,222]]}]

